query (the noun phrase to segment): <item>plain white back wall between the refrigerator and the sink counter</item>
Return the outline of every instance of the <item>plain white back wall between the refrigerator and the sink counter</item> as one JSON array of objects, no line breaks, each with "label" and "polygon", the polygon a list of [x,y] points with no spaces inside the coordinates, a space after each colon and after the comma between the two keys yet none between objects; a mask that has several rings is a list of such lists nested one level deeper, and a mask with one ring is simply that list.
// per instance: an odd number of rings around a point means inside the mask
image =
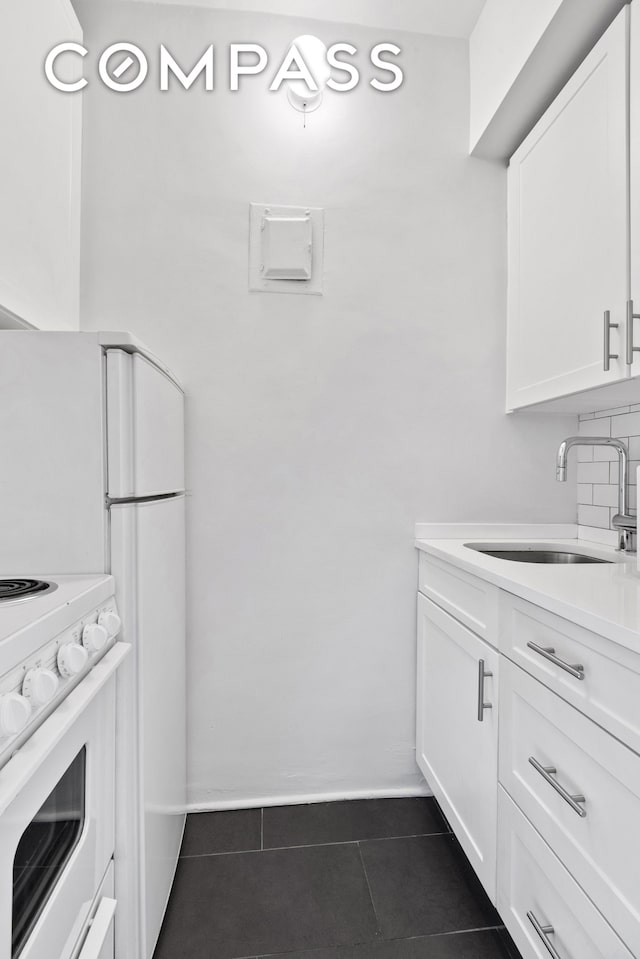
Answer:
[{"label": "plain white back wall between the refrigerator and the sink counter", "polygon": [[[86,42],[284,52],[364,28],[117,3]],[[406,86],[307,129],[260,80],[85,111],[83,315],[187,389],[190,796],[421,789],[416,520],[575,521],[575,417],[504,408],[505,173],[467,156],[463,41],[400,36]],[[113,144],[126,148],[115,150]],[[247,292],[250,201],[326,209],[325,295]]]}]

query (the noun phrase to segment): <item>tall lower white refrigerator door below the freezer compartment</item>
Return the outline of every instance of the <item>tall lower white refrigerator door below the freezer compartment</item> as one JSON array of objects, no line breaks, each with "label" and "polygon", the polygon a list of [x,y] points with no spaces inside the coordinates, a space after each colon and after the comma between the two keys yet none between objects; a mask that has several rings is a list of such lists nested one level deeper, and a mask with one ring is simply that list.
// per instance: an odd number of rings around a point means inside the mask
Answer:
[{"label": "tall lower white refrigerator door below the freezer compartment", "polygon": [[184,496],[113,505],[111,550],[133,646],[118,688],[116,954],[150,959],[185,823]]}]

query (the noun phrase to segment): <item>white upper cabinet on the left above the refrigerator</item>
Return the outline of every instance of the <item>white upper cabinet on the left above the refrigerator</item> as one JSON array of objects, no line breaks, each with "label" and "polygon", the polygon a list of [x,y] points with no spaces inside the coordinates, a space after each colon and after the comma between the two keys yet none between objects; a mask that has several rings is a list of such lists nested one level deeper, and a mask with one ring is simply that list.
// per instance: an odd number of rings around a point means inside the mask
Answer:
[{"label": "white upper cabinet on the left above the refrigerator", "polygon": [[2,0],[0,329],[78,328],[82,104],[43,69],[64,40],[82,40],[69,0]]}]

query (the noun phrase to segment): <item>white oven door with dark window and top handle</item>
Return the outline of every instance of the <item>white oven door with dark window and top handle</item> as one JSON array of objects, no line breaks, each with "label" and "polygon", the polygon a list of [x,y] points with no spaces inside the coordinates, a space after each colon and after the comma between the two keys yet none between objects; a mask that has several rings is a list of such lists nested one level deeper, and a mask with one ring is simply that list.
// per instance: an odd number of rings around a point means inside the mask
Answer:
[{"label": "white oven door with dark window and top handle", "polygon": [[0,770],[0,959],[68,959],[114,850],[116,646]]}]

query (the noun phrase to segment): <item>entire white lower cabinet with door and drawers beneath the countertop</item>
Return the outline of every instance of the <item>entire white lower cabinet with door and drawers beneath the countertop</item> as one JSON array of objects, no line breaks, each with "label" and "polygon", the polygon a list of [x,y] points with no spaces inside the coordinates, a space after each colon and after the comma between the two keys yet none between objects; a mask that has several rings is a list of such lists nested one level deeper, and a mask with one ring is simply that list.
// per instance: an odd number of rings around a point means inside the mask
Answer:
[{"label": "entire white lower cabinet with door and drawers beneath the countertop", "polygon": [[524,959],[640,959],[640,655],[444,565],[418,765]]}]

